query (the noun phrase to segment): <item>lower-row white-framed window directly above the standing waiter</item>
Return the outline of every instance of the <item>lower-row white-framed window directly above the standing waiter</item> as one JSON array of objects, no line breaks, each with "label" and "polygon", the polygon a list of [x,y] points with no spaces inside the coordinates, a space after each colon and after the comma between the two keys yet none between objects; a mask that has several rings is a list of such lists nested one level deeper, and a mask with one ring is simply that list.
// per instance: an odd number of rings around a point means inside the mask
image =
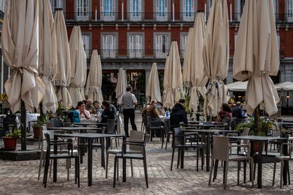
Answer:
[{"label": "lower-row white-framed window directly above the standing waiter", "polygon": [[142,58],[143,53],[143,36],[142,34],[128,35],[128,53],[130,58]]}]

